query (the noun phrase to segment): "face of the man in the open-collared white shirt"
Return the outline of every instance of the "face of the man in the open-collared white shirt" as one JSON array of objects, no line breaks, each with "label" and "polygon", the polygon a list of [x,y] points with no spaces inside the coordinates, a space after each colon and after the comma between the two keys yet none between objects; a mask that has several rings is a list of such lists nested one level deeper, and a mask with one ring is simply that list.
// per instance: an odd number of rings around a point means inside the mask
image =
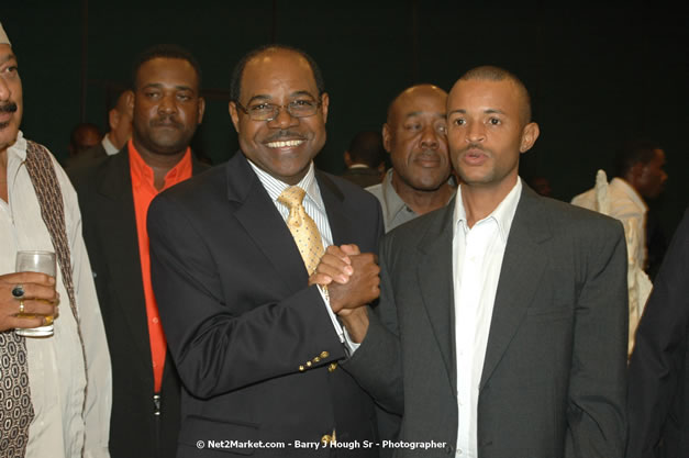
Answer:
[{"label": "face of the man in the open-collared white shirt", "polygon": [[507,193],[516,183],[519,157],[538,137],[525,123],[516,85],[502,80],[459,80],[447,101],[447,141],[455,170],[469,188]]}]

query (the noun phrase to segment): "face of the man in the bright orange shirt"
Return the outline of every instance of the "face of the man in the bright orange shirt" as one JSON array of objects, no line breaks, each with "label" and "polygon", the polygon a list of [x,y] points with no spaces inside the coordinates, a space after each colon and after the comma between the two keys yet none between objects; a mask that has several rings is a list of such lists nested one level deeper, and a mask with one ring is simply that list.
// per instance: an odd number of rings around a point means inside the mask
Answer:
[{"label": "face of the man in the bright orange shirt", "polygon": [[156,57],[136,72],[133,133],[142,154],[176,155],[189,146],[203,118],[199,76],[185,59]]}]

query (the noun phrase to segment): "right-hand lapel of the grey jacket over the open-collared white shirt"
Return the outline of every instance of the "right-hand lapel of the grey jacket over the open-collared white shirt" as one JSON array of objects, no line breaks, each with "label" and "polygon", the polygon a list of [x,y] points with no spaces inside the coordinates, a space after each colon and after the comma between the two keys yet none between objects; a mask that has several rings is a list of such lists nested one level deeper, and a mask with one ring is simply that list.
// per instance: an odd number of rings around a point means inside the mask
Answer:
[{"label": "right-hand lapel of the grey jacket over the open-collared white shirt", "polygon": [[541,206],[541,198],[524,186],[502,259],[479,390],[519,329],[545,271],[547,255],[540,245],[551,237],[551,225]]}]

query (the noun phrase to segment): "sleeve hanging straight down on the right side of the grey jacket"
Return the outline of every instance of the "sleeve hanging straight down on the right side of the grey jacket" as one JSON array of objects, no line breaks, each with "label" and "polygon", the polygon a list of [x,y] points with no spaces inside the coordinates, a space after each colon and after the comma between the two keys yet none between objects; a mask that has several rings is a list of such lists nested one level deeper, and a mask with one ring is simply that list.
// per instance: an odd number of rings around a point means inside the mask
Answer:
[{"label": "sleeve hanging straight down on the right side of the grey jacket", "polygon": [[626,437],[626,245],[619,222],[588,241],[579,264],[566,458],[615,458]]}]

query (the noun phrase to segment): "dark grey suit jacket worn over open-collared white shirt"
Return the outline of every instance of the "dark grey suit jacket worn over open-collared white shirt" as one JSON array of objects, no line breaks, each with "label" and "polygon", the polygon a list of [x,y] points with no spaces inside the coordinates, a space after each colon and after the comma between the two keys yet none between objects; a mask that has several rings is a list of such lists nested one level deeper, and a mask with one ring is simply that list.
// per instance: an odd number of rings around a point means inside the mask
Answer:
[{"label": "dark grey suit jacket worn over open-collared white shirt", "polygon": [[[381,243],[381,297],[343,365],[388,410],[400,438],[455,454],[453,203]],[[460,306],[460,304],[459,304]],[[502,261],[479,383],[480,458],[623,455],[626,247],[619,222],[524,186]]]}]

